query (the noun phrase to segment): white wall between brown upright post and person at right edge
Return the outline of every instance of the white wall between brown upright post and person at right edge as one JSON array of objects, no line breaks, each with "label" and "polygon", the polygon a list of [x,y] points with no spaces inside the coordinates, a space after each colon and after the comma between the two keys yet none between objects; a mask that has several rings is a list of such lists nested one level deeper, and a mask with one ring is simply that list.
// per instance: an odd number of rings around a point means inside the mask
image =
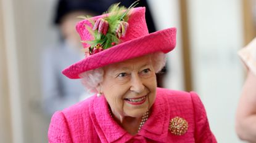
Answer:
[{"label": "white wall between brown upright post and person at right edge", "polygon": [[242,47],[242,1],[188,1],[192,75],[219,142],[241,142],[234,116],[243,68],[236,52]]}]

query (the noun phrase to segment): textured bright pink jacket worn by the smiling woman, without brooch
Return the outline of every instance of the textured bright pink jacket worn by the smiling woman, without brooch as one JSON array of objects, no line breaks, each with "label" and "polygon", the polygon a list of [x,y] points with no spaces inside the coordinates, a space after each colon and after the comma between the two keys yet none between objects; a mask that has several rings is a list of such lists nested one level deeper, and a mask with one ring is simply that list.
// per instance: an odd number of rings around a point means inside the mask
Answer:
[{"label": "textured bright pink jacket worn by the smiling woman, without brooch", "polygon": [[[188,131],[176,136],[168,130],[171,118],[182,117]],[[93,96],[56,112],[49,126],[50,143],[68,142],[176,142],[215,143],[204,106],[196,93],[157,88],[151,115],[136,136],[110,117],[104,96]]]}]

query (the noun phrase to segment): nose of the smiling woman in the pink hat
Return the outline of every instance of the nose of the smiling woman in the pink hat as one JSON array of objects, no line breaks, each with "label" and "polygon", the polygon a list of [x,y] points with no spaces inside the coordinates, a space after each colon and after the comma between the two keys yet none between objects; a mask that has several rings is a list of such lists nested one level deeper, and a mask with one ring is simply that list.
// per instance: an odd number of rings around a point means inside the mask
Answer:
[{"label": "nose of the smiling woman in the pink hat", "polygon": [[131,91],[136,93],[142,93],[144,91],[145,86],[138,74],[131,76]]}]

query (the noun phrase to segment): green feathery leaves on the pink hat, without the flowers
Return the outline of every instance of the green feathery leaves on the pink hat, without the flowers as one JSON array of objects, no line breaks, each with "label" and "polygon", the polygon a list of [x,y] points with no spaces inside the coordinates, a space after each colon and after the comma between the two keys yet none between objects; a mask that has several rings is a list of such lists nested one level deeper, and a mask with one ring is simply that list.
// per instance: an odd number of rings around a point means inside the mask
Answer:
[{"label": "green feathery leaves on the pink hat, without the flowers", "polygon": [[[109,23],[109,27],[107,29],[107,34],[102,34],[102,33],[98,33],[98,30],[93,30],[90,26],[85,25],[86,29],[88,29],[89,33],[91,34],[91,36],[93,36],[92,41],[81,41],[83,43],[89,44],[91,45],[91,47],[89,47],[89,52],[91,53],[93,48],[97,45],[97,44],[101,44],[103,49],[107,49],[113,46],[113,42],[114,44],[119,44],[120,39],[118,39],[118,37],[122,37],[123,34],[126,32],[125,31],[125,26],[123,25],[123,23],[121,21],[128,21],[128,18],[131,14],[131,10],[133,9],[133,7],[137,6],[139,0],[133,2],[133,4],[131,4],[130,7],[128,7],[128,9],[126,9],[126,7],[124,6],[119,6],[120,2],[117,4],[112,4],[112,6],[109,7],[109,9],[104,12],[103,14],[106,14],[106,17],[102,17],[104,18],[104,20],[107,21],[107,23]],[[79,16],[78,18],[83,18],[88,20],[93,26],[95,24],[95,21],[93,18],[91,18],[90,16]],[[117,32],[117,28],[119,28],[121,26],[122,33]]]}]

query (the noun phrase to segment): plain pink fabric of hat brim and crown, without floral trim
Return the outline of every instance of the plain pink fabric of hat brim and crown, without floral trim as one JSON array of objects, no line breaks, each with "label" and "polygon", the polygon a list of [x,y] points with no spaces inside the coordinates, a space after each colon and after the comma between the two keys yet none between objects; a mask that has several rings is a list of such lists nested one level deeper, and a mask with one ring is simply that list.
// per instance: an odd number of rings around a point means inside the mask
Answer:
[{"label": "plain pink fabric of hat brim and crown, without floral trim", "polygon": [[[93,17],[105,17],[100,15]],[[125,37],[121,39],[121,44],[103,50],[102,52],[90,55],[85,59],[72,64],[64,69],[62,73],[70,79],[79,79],[78,76],[81,72],[89,71],[91,69],[100,68],[107,64],[118,63],[131,58],[142,55],[147,55],[154,52],[168,53],[176,45],[176,28],[163,29],[155,33],[149,34],[146,20],[145,20],[145,7],[134,8],[128,20],[129,27],[126,31]],[[76,30],[80,34],[82,41],[91,40],[92,37],[85,25],[91,26],[88,20],[80,21],[76,25]],[[83,44],[84,48],[88,48],[88,44]]]}]

